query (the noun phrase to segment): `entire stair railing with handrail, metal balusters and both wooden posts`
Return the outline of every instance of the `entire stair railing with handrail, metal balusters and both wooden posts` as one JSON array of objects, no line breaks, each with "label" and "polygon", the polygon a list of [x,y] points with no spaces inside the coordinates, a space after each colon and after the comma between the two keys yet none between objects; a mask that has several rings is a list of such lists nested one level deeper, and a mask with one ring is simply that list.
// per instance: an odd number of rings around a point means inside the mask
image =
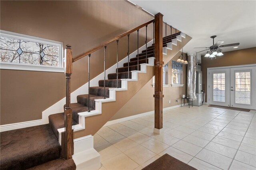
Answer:
[{"label": "entire stair railing with handrail, metal balusters and both wooden posts", "polygon": [[[70,45],[66,45],[65,49],[65,74],[66,74],[66,106],[64,109],[64,121],[65,121],[65,127],[64,132],[61,134],[61,145],[62,145],[62,157],[65,159],[72,158],[72,154],[74,154],[74,142],[73,142],[73,130],[72,130],[72,109],[70,107],[70,78],[72,74],[72,63],[75,61],[78,61],[79,59],[82,59],[83,57],[88,56],[88,112],[91,111],[90,109],[90,57],[91,54],[99,49],[104,48],[104,99],[106,99],[106,47],[110,43],[116,41],[117,43],[117,53],[116,53],[116,87],[118,88],[118,42],[119,39],[122,37],[128,37],[128,78],[131,78],[129,75],[129,63],[130,63],[130,34],[137,31],[137,70],[139,69],[139,30],[143,27],[146,27],[146,63],[148,63],[148,51],[147,51],[147,45],[148,45],[148,37],[147,37],[147,27],[150,23],[153,23],[153,53],[155,59],[155,128],[159,129],[162,127],[161,122],[161,114],[162,114],[162,98],[164,95],[162,95],[162,47],[163,47],[163,37],[162,37],[162,14],[158,13],[156,14],[155,18],[153,20],[150,20],[146,23],[143,23],[142,25],[135,27],[129,31],[126,31],[125,33],[122,33],[121,35],[118,35],[117,37],[114,37],[113,39],[110,39],[109,41],[106,41],[105,43],[98,45],[97,47],[94,47],[74,58],[72,58],[72,49]],[[175,35],[176,36],[176,35]],[[165,37],[167,39],[167,36]],[[167,41],[167,40],[166,40]],[[165,42],[166,42],[165,41]]]}]

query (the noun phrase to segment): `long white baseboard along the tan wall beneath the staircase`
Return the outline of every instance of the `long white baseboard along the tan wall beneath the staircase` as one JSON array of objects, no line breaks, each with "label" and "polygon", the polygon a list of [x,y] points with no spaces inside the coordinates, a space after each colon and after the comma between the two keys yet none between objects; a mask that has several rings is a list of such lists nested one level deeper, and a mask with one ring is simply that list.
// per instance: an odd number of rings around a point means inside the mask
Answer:
[{"label": "long white baseboard along the tan wall beneath the staircase", "polygon": [[[187,105],[188,105],[188,103],[185,104],[185,106],[187,106]],[[170,109],[175,109],[175,108],[178,108],[178,107],[180,107],[180,105],[165,107],[165,108],[163,108],[163,111],[170,110]],[[140,113],[140,114],[137,114],[137,115],[123,117],[123,118],[116,119],[116,120],[111,120],[111,121],[108,121],[104,126],[114,125],[116,123],[120,123],[120,122],[123,122],[123,121],[128,121],[128,120],[131,120],[131,119],[136,119],[136,118],[147,116],[147,115],[150,115],[150,114],[153,114],[153,113],[155,113],[154,110],[148,111],[148,112],[145,112],[145,113]]]}]

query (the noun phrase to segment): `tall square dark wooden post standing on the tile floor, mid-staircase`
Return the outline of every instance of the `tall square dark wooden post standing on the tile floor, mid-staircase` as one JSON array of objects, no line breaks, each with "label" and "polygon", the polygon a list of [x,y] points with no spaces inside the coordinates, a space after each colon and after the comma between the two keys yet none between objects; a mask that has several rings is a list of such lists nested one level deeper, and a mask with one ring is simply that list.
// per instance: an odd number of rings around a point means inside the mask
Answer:
[{"label": "tall square dark wooden post standing on the tile floor, mid-staircase", "polygon": [[163,128],[163,14],[155,15],[155,129]]}]

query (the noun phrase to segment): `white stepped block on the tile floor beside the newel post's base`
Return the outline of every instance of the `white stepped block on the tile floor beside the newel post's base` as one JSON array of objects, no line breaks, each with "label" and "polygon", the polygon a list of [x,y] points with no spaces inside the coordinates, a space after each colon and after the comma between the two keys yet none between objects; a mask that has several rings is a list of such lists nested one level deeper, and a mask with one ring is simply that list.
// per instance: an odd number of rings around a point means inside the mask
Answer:
[{"label": "white stepped block on the tile floor beside the newel post's base", "polygon": [[72,158],[77,170],[98,170],[100,168],[100,154],[93,148],[92,135],[74,139]]}]

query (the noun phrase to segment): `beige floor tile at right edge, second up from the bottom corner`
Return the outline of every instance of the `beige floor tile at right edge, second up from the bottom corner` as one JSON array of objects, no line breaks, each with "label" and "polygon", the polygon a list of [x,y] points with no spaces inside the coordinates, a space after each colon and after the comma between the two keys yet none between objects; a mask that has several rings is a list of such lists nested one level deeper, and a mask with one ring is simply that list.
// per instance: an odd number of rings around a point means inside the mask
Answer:
[{"label": "beige floor tile at right edge, second up from the bottom corner", "polygon": [[249,154],[238,150],[238,152],[236,153],[235,160],[256,167],[256,156],[253,154]]}]

